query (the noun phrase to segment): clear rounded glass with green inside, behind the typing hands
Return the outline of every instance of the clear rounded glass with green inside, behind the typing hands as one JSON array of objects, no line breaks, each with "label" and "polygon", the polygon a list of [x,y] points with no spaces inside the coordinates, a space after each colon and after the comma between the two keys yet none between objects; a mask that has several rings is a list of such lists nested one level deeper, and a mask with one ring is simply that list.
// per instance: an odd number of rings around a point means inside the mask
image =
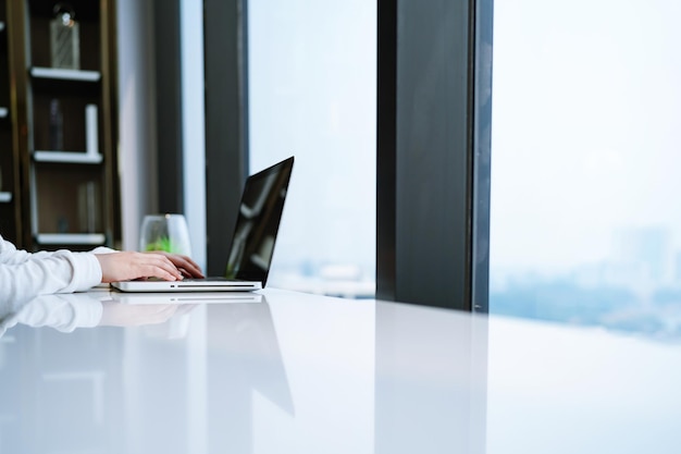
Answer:
[{"label": "clear rounded glass with green inside, behind the typing hands", "polygon": [[139,250],[191,256],[189,229],[182,214],[147,214],[141,222]]}]

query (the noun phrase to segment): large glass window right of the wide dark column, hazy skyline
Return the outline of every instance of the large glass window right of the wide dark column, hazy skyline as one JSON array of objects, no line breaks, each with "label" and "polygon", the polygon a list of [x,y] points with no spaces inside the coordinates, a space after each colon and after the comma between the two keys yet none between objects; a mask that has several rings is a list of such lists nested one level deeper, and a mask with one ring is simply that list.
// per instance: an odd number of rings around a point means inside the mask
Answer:
[{"label": "large glass window right of the wide dark column, hazy skyline", "polygon": [[673,335],[681,3],[495,3],[492,312]]}]

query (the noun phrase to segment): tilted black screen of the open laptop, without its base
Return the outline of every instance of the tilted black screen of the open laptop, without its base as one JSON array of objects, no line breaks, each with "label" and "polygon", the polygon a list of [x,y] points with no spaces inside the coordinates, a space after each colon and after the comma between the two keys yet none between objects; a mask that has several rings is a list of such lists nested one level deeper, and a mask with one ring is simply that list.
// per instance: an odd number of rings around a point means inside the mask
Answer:
[{"label": "tilted black screen of the open laptop, without its base", "polygon": [[246,180],[232,237],[225,275],[268,280],[294,158],[290,157]]}]

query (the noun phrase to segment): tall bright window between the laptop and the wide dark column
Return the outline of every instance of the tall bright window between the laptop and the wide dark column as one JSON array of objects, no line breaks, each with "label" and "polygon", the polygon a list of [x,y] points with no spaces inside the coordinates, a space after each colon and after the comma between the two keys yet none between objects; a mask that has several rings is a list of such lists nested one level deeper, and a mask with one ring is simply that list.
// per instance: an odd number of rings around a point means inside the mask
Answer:
[{"label": "tall bright window between the laptop and the wide dark column", "polygon": [[250,171],[294,155],[268,285],[373,296],[376,4],[248,2]]}]

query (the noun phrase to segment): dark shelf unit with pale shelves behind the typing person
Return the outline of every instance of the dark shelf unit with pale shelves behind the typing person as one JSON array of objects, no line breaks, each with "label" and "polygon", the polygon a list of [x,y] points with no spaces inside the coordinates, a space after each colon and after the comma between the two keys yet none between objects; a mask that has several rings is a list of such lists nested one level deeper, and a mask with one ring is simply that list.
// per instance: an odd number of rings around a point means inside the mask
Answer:
[{"label": "dark shelf unit with pale shelves behind the typing person", "polygon": [[21,182],[10,198],[21,207],[20,246],[114,246],[120,240],[114,0],[69,1],[79,34],[79,62],[71,68],[57,68],[63,65],[52,60],[50,24],[58,1],[0,2],[5,2],[0,21],[10,24],[5,35],[16,82],[8,112]]}]

